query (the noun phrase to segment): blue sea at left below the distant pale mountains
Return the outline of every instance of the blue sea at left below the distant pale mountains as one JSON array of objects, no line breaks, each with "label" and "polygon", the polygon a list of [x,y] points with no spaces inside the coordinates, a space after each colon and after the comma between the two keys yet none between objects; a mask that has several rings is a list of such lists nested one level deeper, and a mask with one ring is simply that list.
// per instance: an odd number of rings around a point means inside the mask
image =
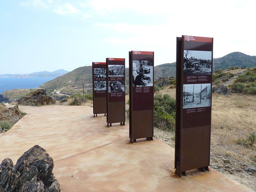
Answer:
[{"label": "blue sea at left below the distant pale mountains", "polygon": [[10,89],[37,88],[54,78],[0,78],[0,94]]}]

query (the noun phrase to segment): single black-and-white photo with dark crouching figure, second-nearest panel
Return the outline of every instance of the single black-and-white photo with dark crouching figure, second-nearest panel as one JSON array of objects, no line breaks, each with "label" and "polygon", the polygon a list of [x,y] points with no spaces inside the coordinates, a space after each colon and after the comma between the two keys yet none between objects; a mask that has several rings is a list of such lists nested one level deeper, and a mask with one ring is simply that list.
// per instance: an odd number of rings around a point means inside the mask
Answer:
[{"label": "single black-and-white photo with dark crouching figure, second-nearest panel", "polygon": [[153,86],[153,61],[132,61],[132,84],[136,86]]}]

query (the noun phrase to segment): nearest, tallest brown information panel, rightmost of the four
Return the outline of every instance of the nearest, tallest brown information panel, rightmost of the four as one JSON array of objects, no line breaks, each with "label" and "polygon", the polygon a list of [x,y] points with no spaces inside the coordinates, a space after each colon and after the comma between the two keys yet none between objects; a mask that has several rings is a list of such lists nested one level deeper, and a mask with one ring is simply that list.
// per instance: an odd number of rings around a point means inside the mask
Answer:
[{"label": "nearest, tallest brown information panel, rightmost of the four", "polygon": [[208,170],[213,38],[177,37],[175,173]]}]

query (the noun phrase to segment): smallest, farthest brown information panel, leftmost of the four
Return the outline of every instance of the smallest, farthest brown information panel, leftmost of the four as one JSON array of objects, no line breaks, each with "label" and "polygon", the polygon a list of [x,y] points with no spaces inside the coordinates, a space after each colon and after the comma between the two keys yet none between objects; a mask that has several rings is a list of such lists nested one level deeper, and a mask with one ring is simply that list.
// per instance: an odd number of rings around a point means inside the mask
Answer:
[{"label": "smallest, farthest brown information panel, leftmost of the four", "polygon": [[107,113],[106,62],[92,62],[93,115]]}]

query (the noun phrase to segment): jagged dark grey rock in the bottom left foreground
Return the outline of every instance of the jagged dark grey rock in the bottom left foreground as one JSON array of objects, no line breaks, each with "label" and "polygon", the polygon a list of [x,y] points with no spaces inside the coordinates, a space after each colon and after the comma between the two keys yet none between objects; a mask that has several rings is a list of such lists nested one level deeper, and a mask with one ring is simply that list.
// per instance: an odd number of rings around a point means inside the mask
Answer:
[{"label": "jagged dark grey rock in the bottom left foreground", "polygon": [[60,192],[53,167],[52,157],[38,145],[26,151],[15,166],[11,159],[4,159],[0,165],[0,191]]}]

